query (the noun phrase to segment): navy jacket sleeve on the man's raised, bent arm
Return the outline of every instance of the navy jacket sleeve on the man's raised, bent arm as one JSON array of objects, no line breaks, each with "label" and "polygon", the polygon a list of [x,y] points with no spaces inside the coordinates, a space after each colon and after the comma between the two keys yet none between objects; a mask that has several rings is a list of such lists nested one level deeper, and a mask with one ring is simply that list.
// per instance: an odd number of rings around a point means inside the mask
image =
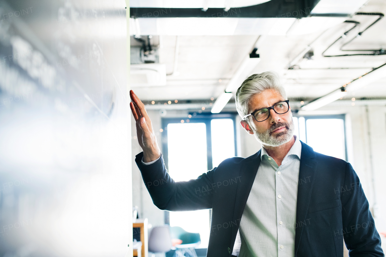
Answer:
[{"label": "navy jacket sleeve on the man's raised, bent arm", "polygon": [[175,182],[166,170],[163,157],[156,162],[142,164],[143,152],[135,156],[135,162],[142,174],[147,191],[154,205],[161,210],[193,211],[212,208],[212,194],[215,169],[203,173],[196,179]]}]

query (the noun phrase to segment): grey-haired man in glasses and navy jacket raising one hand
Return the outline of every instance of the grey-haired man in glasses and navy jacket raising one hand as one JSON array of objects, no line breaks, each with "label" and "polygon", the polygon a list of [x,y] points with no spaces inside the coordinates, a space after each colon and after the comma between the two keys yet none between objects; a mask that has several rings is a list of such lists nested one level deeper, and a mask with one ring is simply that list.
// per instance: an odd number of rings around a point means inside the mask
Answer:
[{"label": "grey-haired man in glasses and navy jacket raising one hand", "polygon": [[[342,257],[343,240],[350,256],[384,256],[355,171],[293,135],[276,73],[250,76],[235,96],[240,123],[261,150],[226,159],[190,181],[170,178],[145,107],[133,91],[130,96],[143,149],[135,162],[153,203],[169,211],[212,208],[208,257]],[[147,183],[154,181],[160,183]]]}]

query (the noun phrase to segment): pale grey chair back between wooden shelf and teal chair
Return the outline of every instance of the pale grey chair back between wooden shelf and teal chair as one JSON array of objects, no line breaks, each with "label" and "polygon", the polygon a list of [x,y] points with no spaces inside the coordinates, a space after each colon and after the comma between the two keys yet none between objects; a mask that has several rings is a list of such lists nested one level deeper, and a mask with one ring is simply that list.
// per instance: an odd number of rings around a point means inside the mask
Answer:
[{"label": "pale grey chair back between wooden shelf and teal chair", "polygon": [[167,225],[154,227],[150,232],[148,240],[148,248],[149,252],[152,253],[152,257],[156,253],[169,252],[171,247],[170,227]]}]

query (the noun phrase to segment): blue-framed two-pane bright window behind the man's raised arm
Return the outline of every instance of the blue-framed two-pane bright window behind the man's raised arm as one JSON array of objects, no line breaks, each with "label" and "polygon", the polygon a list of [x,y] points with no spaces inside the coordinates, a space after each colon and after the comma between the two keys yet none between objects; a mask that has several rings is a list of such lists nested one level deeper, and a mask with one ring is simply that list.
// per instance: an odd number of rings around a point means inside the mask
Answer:
[{"label": "blue-framed two-pane bright window behind the man's raised arm", "polygon": [[[168,135],[164,150],[168,151],[167,165],[175,181],[188,181],[217,167],[224,159],[235,156],[233,118],[164,119]],[[207,248],[210,233],[210,210],[170,211],[170,226],[200,233],[201,245]]]}]

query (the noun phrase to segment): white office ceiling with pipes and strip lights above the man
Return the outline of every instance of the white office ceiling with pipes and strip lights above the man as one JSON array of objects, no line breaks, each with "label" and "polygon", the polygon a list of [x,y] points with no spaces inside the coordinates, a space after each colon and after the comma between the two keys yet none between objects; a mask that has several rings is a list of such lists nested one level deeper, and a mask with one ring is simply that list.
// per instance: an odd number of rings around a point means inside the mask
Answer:
[{"label": "white office ceiling with pipes and strip lights above the man", "polygon": [[[385,13],[386,3],[381,0],[371,0],[357,12]],[[147,101],[217,98],[225,90],[227,82],[234,76],[242,60],[256,44],[261,61],[253,69],[253,73],[268,70],[277,71],[282,77],[289,98],[312,100],[326,95],[352,81],[352,79],[386,63],[386,55],[322,56],[323,51],[328,46],[354,26],[354,23],[345,21],[355,21],[359,24],[347,34],[345,39],[340,39],[337,44],[330,47],[325,55],[347,54],[347,52],[339,51],[339,46],[356,37],[358,32],[366,29],[378,17],[377,15],[332,17],[330,20],[334,19],[334,21],[330,22],[327,28],[320,27],[318,24],[327,24],[329,22],[328,17],[323,17],[324,21],[311,25],[311,19],[315,20],[315,18],[320,17],[294,19],[291,21],[289,29],[282,35],[275,35],[272,29],[271,32],[247,35],[234,35],[233,32],[231,35],[226,35],[228,32],[224,32],[225,35],[216,36],[186,35],[185,33],[185,35],[179,36],[176,69],[178,73],[167,76],[165,86],[141,86],[133,89],[142,99]],[[177,22],[180,18],[166,19],[174,19]],[[306,22],[302,22],[302,20]],[[162,31],[159,27],[160,24],[162,23],[157,23],[157,31]],[[144,25],[141,24],[141,26],[141,30],[143,30]],[[383,33],[385,27],[386,18],[383,18],[361,36],[357,36],[352,42],[344,46],[343,49],[386,49],[386,34]],[[157,39],[161,42],[159,61],[166,64],[167,74],[172,73],[174,69],[176,37],[175,35],[162,35],[160,33],[159,39]],[[133,44],[135,45],[136,42],[133,41]],[[313,56],[309,59],[300,56],[299,61],[291,63],[306,46],[311,46]],[[357,51],[348,53],[355,54]],[[370,54],[368,51],[359,53]],[[290,69],[289,66],[291,66]],[[351,98],[351,95],[356,98],[385,98],[386,78],[354,91],[347,97]]]}]

